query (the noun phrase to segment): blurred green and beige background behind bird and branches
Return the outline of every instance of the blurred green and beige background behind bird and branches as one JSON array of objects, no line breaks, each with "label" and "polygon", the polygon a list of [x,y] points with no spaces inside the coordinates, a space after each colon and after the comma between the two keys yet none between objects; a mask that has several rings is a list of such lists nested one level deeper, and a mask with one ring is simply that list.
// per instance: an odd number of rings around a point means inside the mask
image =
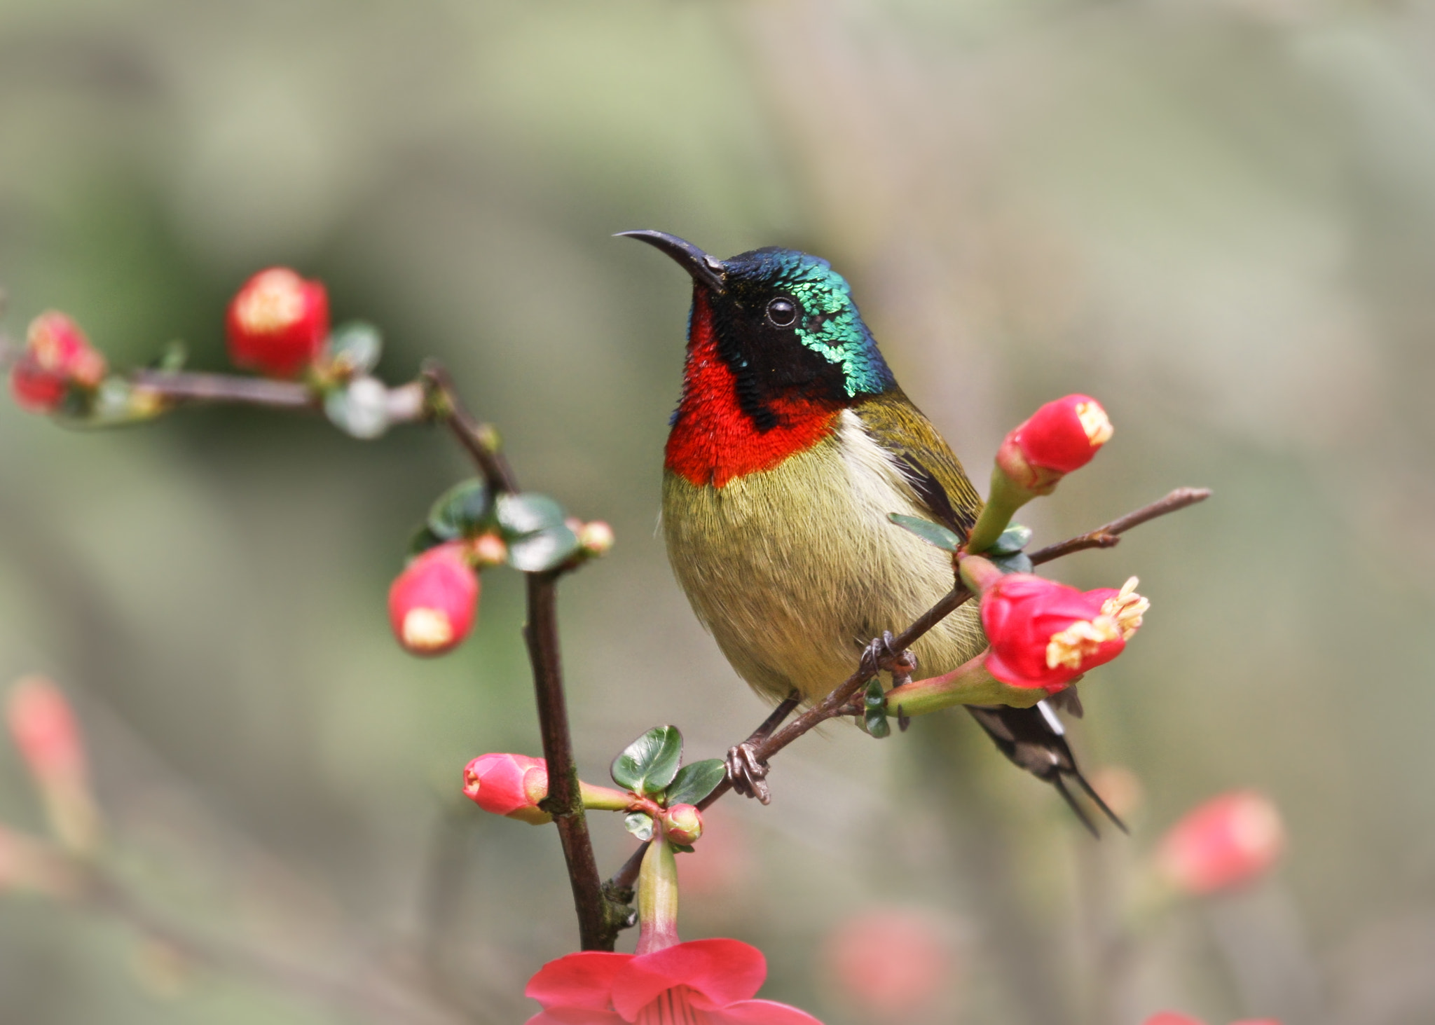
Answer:
[{"label": "blurred green and beige background behind bird and branches", "polygon": [[[1073,728],[1139,782],[1129,840],[1092,843],[960,713],[834,726],[775,764],[769,808],[715,810],[684,936],[758,943],[763,995],[831,1025],[1413,1025],[1432,69],[1413,0],[4,0],[4,323],[60,307],[113,363],[184,339],[221,369],[228,294],[286,263],[382,324],[389,379],[442,357],[528,487],[617,531],[561,597],[601,780],[647,726],[710,757],[765,712],[654,535],[687,284],[610,234],[821,253],[977,479],[1039,402],[1101,396],[1115,441],[1030,507],[1039,541],[1215,497],[1050,567],[1138,573],[1154,603]],[[0,1018],[532,1014],[522,980],[575,942],[557,838],[456,797],[468,758],[538,751],[521,581],[485,576],[446,659],[385,617],[409,530],[469,472],[448,439],[212,409],[83,434],[9,403],[0,432],[0,675],[75,696],[113,871],[220,952],[3,897]],[[1159,833],[1234,787],[1281,808],[1280,869],[1132,912]],[[9,748],[0,817],[43,828]],[[594,833],[611,871],[631,841]],[[934,998],[880,1012],[842,983],[834,936],[872,914],[940,937]]]}]

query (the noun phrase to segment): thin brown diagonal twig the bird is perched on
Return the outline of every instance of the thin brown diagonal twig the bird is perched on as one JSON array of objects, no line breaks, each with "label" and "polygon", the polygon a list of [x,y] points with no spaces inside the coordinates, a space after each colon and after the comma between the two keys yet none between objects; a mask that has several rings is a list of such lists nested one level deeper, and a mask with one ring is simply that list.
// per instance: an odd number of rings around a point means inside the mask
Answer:
[{"label": "thin brown diagonal twig the bird is perched on", "polygon": [[[1053,558],[1060,558],[1073,551],[1081,551],[1082,548],[1109,548],[1116,544],[1121,538],[1119,535],[1131,530],[1132,527],[1139,527],[1141,524],[1155,520],[1157,517],[1167,515],[1168,512],[1175,512],[1177,510],[1184,510],[1187,505],[1195,505],[1197,502],[1205,501],[1211,497],[1210,488],[1177,488],[1165,498],[1159,498],[1149,505],[1142,505],[1141,508],[1128,512],[1119,520],[1112,520],[1104,527],[1098,527],[1093,531],[1081,534],[1079,537],[1069,538],[1060,544],[1052,544],[1045,548],[1039,548],[1032,553],[1032,563],[1049,563]],[[931,606],[924,612],[911,626],[908,626],[903,633],[893,642],[895,650],[903,650],[911,647],[917,640],[927,633],[931,627],[940,623],[943,619],[960,609],[967,599],[971,597],[971,591],[963,587],[960,583],[947,591],[937,604]],[[809,708],[806,712],[799,715],[796,719],[789,722],[785,728],[775,732],[768,739],[758,744],[753,754],[758,757],[759,762],[766,762],[772,755],[782,751],[794,741],[796,741],[804,734],[812,731],[815,726],[822,725],[828,719],[835,719],[839,715],[847,713],[848,702],[857,695],[858,691],[865,686],[865,683],[875,673],[867,672],[858,668],[851,676],[848,676],[841,685],[837,686],[831,693],[828,693],[821,702]],[[763,724],[766,725],[766,724]],[[761,728],[759,731],[761,732]],[[753,735],[756,735],[756,732]],[[732,790],[732,781],[723,780],[713,790],[712,794],[699,801],[699,808],[709,808],[715,801],[718,801],[723,794]],[[618,869],[617,874],[608,880],[607,886],[614,889],[631,887],[633,881],[637,879],[639,867],[643,861],[643,851],[647,850],[647,844],[639,847],[623,867]]]}]

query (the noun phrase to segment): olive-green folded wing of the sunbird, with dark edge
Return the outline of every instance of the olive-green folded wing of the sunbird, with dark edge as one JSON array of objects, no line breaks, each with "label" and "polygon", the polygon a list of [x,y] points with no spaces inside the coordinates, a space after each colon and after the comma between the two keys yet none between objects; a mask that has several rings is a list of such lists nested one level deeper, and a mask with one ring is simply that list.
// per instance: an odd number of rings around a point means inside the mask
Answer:
[{"label": "olive-green folded wing of the sunbird, with dark edge", "polygon": [[867,435],[891,454],[931,515],[966,537],[982,510],[982,497],[931,421],[900,389],[872,396],[852,412]]}]

